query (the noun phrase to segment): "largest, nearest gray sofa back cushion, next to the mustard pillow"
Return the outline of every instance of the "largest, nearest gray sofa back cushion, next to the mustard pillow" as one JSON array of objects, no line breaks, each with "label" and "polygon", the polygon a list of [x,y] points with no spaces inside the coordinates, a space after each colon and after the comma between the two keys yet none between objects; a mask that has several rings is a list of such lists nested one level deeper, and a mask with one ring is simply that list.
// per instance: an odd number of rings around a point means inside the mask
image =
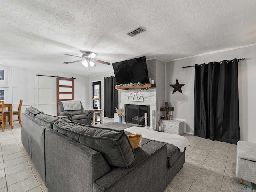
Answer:
[{"label": "largest, nearest gray sofa back cushion, next to the mustard pillow", "polygon": [[111,166],[129,168],[135,158],[132,146],[123,130],[85,126],[66,119],[54,122],[53,129],[100,152]]}]

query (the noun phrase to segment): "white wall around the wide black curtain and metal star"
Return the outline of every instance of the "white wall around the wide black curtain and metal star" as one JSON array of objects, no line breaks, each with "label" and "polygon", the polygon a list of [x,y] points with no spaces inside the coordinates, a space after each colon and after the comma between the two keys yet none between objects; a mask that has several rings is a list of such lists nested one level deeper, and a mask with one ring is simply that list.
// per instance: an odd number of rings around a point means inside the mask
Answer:
[{"label": "white wall around the wide black curtain and metal star", "polygon": [[[256,46],[249,46],[224,52],[196,56],[167,63],[167,100],[174,106],[174,118],[186,119],[186,132],[194,131],[194,68],[182,66],[208,63],[233,58],[247,58],[238,63],[239,111],[241,140],[255,142],[256,128]],[[185,83],[182,92],[172,94],[170,84]]]}]

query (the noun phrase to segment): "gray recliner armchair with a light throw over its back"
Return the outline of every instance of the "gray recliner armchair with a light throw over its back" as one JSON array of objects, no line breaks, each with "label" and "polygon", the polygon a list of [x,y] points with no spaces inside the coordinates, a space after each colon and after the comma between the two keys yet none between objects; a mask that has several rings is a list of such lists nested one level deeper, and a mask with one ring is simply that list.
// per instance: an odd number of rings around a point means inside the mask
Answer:
[{"label": "gray recliner armchair with a light throw over its back", "polygon": [[92,124],[92,110],[84,110],[81,101],[59,101],[58,112],[68,120],[84,125]]}]

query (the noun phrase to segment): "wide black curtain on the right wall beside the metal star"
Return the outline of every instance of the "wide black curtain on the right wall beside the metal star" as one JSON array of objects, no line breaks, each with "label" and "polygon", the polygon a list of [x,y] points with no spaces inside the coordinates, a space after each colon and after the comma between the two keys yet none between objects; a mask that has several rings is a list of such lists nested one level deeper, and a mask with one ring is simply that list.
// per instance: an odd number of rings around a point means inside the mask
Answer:
[{"label": "wide black curtain on the right wall beside the metal star", "polygon": [[238,60],[196,65],[194,136],[237,144],[238,120]]}]

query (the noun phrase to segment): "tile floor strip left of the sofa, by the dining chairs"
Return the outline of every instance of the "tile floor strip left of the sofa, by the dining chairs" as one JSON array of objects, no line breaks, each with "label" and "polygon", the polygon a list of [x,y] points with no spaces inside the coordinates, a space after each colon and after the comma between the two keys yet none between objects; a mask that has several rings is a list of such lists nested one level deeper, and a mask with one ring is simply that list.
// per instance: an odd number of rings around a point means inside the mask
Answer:
[{"label": "tile floor strip left of the sofa, by the dining chairs", "polygon": [[0,130],[0,192],[48,192],[21,143],[21,127]]}]

